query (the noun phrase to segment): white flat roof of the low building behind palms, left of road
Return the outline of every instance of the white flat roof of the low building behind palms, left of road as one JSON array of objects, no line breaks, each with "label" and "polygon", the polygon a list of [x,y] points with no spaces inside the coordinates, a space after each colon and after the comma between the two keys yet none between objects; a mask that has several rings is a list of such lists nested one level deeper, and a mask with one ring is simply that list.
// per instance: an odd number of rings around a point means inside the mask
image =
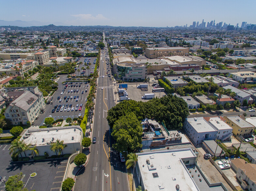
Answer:
[{"label": "white flat roof of the low building behind palms, left of road", "polygon": [[83,136],[83,132],[79,126],[51,127],[43,129],[28,129],[20,140],[23,140],[26,145],[31,144],[32,146],[43,146],[50,145],[57,139],[61,141],[63,140],[64,144],[77,143],[80,142],[81,136]]}]

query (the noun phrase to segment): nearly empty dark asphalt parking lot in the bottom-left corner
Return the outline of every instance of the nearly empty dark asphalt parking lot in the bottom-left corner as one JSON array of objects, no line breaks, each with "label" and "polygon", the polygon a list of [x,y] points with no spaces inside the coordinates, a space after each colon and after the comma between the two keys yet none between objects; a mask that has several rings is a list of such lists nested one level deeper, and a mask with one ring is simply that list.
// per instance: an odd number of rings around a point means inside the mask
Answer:
[{"label": "nearly empty dark asphalt parking lot in the bottom-left corner", "polygon": [[[13,176],[20,172],[23,173],[22,181],[24,187],[30,190],[59,190],[64,176],[64,172],[67,165],[67,160],[46,160],[46,161],[29,161],[29,162],[12,162],[8,148],[10,145],[0,146],[0,176],[2,181],[0,182],[0,191],[5,190],[5,182],[9,176]],[[23,154],[24,155],[24,154]],[[42,155],[42,153],[39,153]],[[33,178],[30,174],[36,172],[37,175]]]}]

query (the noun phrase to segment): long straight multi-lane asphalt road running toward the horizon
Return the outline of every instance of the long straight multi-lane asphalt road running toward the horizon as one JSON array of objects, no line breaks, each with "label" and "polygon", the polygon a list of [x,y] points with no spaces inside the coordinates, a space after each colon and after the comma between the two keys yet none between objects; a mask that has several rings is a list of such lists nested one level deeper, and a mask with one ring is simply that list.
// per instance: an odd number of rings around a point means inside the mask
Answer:
[{"label": "long straight multi-lane asphalt road running toward the horizon", "polygon": [[90,147],[90,158],[85,169],[76,177],[74,190],[77,191],[129,190],[125,163],[120,161],[119,154],[111,148],[113,139],[106,117],[107,111],[115,106],[115,98],[112,80],[106,75],[105,56],[105,50],[102,50],[92,132],[92,137],[97,140]]}]

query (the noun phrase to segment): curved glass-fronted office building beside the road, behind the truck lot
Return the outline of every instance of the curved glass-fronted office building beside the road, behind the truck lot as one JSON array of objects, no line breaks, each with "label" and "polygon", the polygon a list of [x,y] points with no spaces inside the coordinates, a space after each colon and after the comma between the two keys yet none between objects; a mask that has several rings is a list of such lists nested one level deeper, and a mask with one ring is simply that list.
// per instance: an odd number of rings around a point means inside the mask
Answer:
[{"label": "curved glass-fronted office building beside the road, behind the truck lot", "polygon": [[124,81],[144,80],[147,69],[145,64],[139,64],[131,57],[117,57],[113,59],[113,71],[118,79]]}]

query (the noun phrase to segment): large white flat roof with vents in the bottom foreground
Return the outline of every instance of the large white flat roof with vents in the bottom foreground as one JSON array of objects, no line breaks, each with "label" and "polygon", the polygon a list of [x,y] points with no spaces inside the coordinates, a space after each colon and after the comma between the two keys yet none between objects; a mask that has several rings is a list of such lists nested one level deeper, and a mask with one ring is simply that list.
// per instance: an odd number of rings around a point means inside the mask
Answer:
[{"label": "large white flat roof with vents in the bottom foreground", "polygon": [[[181,161],[184,158],[196,159],[191,148],[137,153],[137,155],[144,189],[156,191],[159,190],[160,185],[165,188],[164,190],[176,190],[175,186],[178,184],[180,190],[199,191]],[[147,159],[149,159],[150,165],[154,165],[155,170],[149,170]],[[154,178],[153,173],[157,173],[158,177]]]}]

